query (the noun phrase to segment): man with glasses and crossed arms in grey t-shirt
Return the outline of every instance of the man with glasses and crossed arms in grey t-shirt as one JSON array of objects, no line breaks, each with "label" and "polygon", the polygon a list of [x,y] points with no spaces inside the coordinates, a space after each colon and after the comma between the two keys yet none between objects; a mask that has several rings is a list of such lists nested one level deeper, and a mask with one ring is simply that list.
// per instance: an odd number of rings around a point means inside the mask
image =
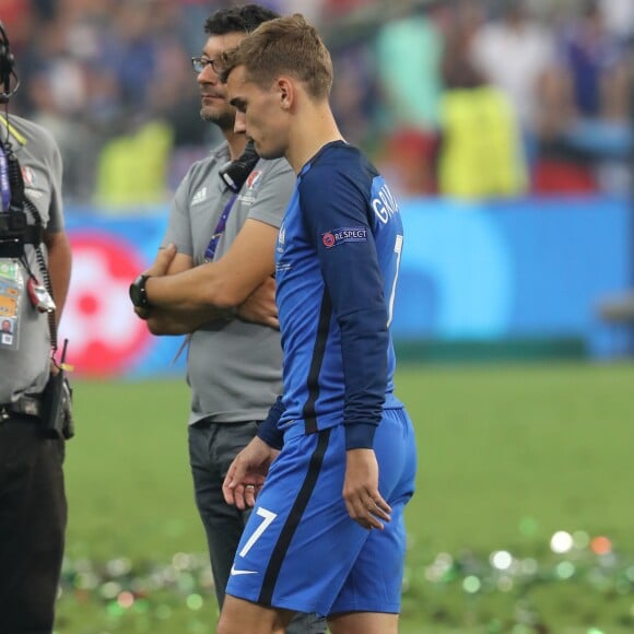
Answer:
[{"label": "man with glasses and crossed arms in grey t-shirt", "polygon": [[[137,314],[155,334],[188,336],[189,456],[222,607],[246,514],[228,506],[222,483],[281,390],[282,352],[274,306],[274,244],[295,184],[285,160],[257,161],[239,191],[220,172],[246,145],[220,82],[219,58],[275,14],[256,4],[216,11],[193,58],[202,117],[226,139],[191,166],[178,187],[154,265],[131,287]],[[235,164],[234,164],[235,165]],[[238,171],[239,172],[239,171]],[[289,633],[326,632],[300,615]]]}]

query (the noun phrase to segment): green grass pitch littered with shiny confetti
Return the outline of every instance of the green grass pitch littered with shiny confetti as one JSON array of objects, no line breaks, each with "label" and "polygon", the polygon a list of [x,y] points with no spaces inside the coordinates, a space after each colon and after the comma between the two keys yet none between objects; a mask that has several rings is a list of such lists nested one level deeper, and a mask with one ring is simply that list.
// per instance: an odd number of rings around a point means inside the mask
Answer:
[{"label": "green grass pitch littered with shiny confetti", "polygon": [[[401,366],[397,394],[419,447],[401,632],[632,630],[633,386],[627,363]],[[134,571],[160,568],[176,553],[204,555],[187,461],[184,380],[79,381],[74,409],[56,632],[212,633],[215,603],[209,587],[200,589],[198,573],[186,575],[183,587],[152,586],[144,577],[143,600],[134,604],[117,602],[120,588],[108,576],[127,562],[132,572],[116,583],[134,587],[141,583]],[[559,530],[608,537],[611,559],[555,557],[549,542]],[[498,550],[538,562],[543,578],[501,591],[486,589],[489,573],[482,573],[482,590],[466,591],[465,562],[488,562]],[[462,563],[453,579],[431,583],[438,553]],[[565,573],[562,562],[586,566],[587,574]]]}]

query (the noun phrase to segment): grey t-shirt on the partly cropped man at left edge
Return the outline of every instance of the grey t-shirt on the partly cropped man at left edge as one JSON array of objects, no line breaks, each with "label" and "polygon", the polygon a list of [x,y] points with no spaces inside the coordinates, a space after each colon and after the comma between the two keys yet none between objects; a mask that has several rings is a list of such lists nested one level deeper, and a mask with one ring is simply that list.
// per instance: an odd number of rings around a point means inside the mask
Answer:
[{"label": "grey t-shirt on the partly cropped man at left edge", "polygon": [[[48,233],[63,230],[61,203],[61,156],[51,134],[40,126],[11,115],[9,125],[0,116],[0,134],[9,138],[22,167],[25,193],[37,208]],[[30,223],[34,223],[27,212]],[[42,250],[47,258],[46,246]],[[25,247],[32,271],[42,280],[35,249]],[[16,271],[20,281],[12,280]],[[9,281],[8,281],[9,280]],[[49,375],[50,333],[47,315],[38,313],[31,304],[26,284],[28,274],[14,260],[0,259],[0,320],[11,321],[11,333],[0,345],[0,403],[16,400],[23,394],[39,394]],[[17,313],[11,316],[12,305],[2,295],[20,287]],[[9,289],[9,290],[8,290]],[[12,339],[10,339],[12,338]]]}]

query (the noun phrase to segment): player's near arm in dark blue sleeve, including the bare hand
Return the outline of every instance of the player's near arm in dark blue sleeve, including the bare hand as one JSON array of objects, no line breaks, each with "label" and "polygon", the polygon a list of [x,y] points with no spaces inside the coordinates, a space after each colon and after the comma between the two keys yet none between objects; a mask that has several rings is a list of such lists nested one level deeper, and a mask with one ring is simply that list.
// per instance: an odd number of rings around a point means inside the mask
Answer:
[{"label": "player's near arm in dark blue sleeve, including the bare hand", "polygon": [[[317,173],[309,176],[319,180]],[[347,468],[343,498],[350,516],[367,529],[383,528],[390,507],[378,490],[374,434],[383,414],[389,334],[374,237],[363,193],[343,174],[329,174],[329,187],[302,192],[333,317],[341,331],[344,374],[343,423]],[[302,196],[304,193],[304,196]],[[357,228],[363,239],[331,244],[325,234]]]}]

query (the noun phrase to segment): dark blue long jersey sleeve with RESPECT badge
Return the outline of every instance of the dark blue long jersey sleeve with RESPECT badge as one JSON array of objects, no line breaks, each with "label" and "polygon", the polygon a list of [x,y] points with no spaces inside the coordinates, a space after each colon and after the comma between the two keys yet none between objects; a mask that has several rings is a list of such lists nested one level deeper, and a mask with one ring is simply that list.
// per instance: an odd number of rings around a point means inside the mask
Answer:
[{"label": "dark blue long jersey sleeve with RESPECT badge", "polygon": [[341,331],[348,449],[373,446],[388,374],[384,284],[362,187],[333,165],[309,171],[300,187],[308,237]]}]

